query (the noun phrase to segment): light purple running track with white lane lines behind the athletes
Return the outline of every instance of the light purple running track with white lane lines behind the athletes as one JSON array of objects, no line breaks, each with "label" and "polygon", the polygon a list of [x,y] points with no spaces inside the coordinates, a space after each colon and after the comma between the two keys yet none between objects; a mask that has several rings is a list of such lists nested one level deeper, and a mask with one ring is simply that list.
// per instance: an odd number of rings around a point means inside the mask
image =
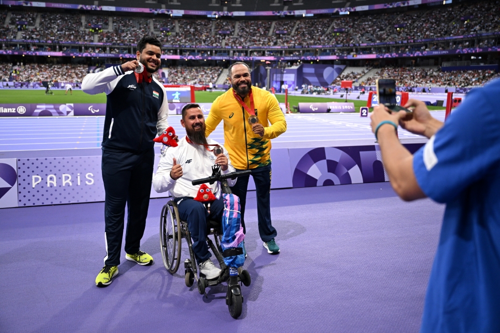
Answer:
[{"label": "light purple running track with white lane lines behind the athletes", "polygon": [[[432,115],[444,119],[444,111]],[[369,117],[359,113],[343,114],[286,114],[287,130],[272,140],[273,147],[313,147],[372,144],[373,133]],[[180,115],[170,115],[168,122],[184,135]],[[102,140],[103,116],[69,117],[12,117],[0,118],[0,151],[39,149],[99,148]],[[224,142],[220,123],[210,137]],[[399,138],[419,139],[417,135],[399,129]],[[159,146],[160,144],[157,143]]]}]

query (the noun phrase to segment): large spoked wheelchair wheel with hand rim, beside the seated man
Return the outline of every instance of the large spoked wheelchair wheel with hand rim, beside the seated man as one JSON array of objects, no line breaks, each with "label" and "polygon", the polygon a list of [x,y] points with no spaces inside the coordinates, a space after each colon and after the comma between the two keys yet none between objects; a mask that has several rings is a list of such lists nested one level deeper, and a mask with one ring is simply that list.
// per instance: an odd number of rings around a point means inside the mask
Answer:
[{"label": "large spoked wheelchair wheel with hand rim, beside the seated man", "polygon": [[170,274],[174,274],[179,268],[181,236],[178,216],[173,201],[168,201],[161,209],[159,223],[161,257],[163,265]]}]

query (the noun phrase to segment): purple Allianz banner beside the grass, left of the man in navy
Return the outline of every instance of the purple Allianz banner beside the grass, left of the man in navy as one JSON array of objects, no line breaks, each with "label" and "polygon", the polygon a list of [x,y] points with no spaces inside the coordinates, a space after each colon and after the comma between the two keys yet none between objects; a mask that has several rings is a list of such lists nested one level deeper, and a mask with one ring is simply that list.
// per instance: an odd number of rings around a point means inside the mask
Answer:
[{"label": "purple Allianz banner beside the grass, left of the man in navy", "polygon": [[0,117],[105,115],[105,103],[0,104]]}]

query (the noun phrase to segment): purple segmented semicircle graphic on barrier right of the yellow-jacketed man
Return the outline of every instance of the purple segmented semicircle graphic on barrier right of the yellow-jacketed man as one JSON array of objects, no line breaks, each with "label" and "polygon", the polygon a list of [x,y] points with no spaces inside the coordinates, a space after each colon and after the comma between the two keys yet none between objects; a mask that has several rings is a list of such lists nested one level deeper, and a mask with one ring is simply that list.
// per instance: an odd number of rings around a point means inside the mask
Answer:
[{"label": "purple segmented semicircle graphic on barrier right of the yellow-jacketed man", "polygon": [[356,162],[344,151],[320,147],[300,158],[293,171],[293,187],[315,187],[361,183],[363,178]]}]

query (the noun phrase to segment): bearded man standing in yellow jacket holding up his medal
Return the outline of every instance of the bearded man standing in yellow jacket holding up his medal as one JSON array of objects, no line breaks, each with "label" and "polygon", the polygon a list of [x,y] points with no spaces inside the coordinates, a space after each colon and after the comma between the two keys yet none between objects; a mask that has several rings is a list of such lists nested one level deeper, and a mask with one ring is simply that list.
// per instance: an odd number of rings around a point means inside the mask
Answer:
[{"label": "bearded man standing in yellow jacket holding up his medal", "polygon": [[[252,86],[250,68],[244,62],[229,66],[232,88],[218,96],[206,118],[206,136],[224,121],[224,146],[236,170],[251,170],[257,191],[258,232],[263,246],[277,254],[276,229],[271,224],[269,191],[271,189],[271,141],[286,130],[286,120],[278,101],[268,91]],[[269,126],[269,122],[271,125]],[[231,187],[239,197],[241,225],[244,224],[246,190],[249,176],[238,177]]]}]

